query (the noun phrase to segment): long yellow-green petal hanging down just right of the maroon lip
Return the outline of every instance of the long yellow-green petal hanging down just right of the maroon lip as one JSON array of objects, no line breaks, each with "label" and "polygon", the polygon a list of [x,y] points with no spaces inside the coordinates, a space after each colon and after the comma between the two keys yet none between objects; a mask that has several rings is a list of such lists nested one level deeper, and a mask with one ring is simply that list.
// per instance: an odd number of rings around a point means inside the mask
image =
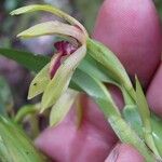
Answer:
[{"label": "long yellow-green petal hanging down just right of the maroon lip", "polygon": [[48,84],[42,96],[42,110],[51,107],[67,90],[71,77],[86,54],[86,46],[82,45],[75,53],[72,53],[57,69],[54,78]]}]

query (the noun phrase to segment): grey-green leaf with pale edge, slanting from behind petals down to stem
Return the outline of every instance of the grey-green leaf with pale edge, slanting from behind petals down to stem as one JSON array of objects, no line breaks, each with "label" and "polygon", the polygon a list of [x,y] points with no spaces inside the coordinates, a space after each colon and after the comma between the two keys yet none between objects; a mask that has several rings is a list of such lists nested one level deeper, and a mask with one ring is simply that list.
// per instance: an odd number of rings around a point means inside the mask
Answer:
[{"label": "grey-green leaf with pale edge, slanting from behind petals down to stem", "polygon": [[97,103],[104,103],[107,105],[102,106],[106,117],[110,114],[120,116],[120,112],[113,103],[111,95],[108,93],[104,84],[102,84],[96,78],[89,76],[80,69],[77,69],[72,77],[75,82],[82,91],[89,94]]}]

